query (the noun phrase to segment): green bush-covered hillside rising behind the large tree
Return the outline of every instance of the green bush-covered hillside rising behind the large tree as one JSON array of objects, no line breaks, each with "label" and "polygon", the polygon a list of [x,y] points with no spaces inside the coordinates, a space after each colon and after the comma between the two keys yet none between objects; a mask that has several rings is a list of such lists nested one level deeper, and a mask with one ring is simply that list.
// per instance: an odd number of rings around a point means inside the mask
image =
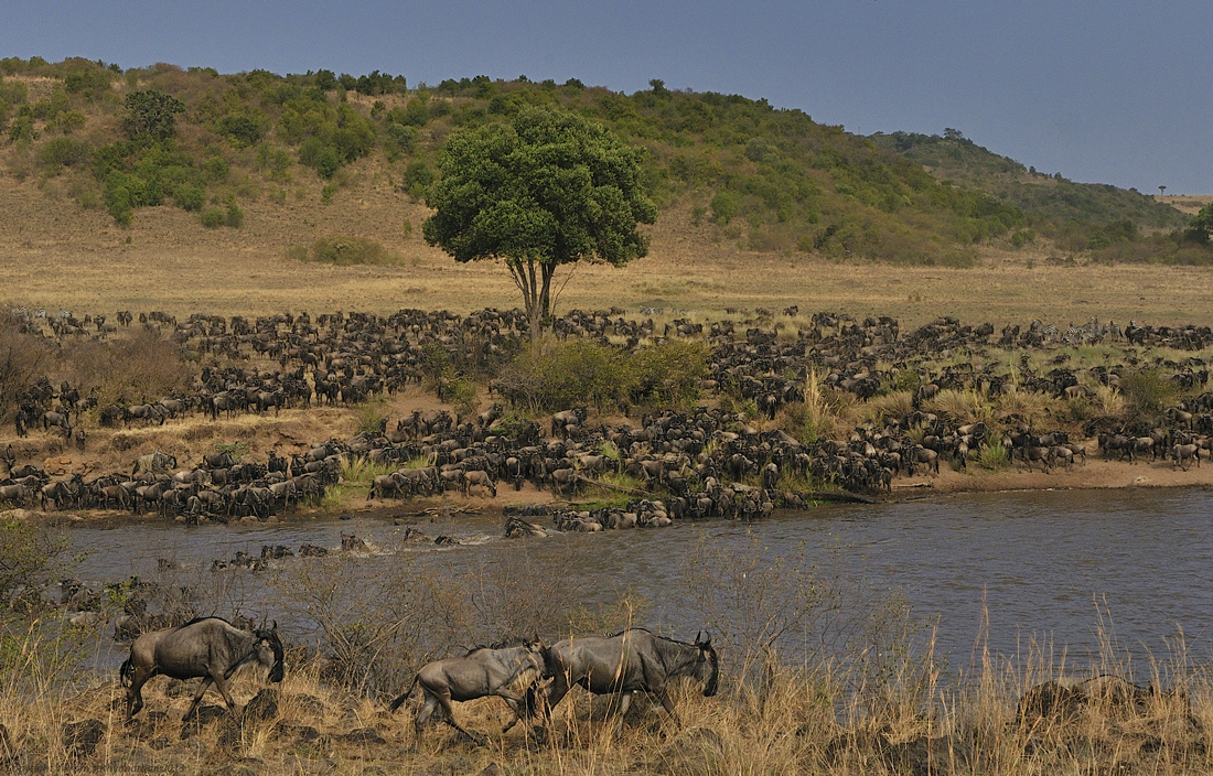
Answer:
[{"label": "green bush-covered hillside rising behind the large tree", "polygon": [[[694,226],[744,250],[967,266],[981,245],[1040,238],[1088,250],[1183,226],[1149,198],[1035,176],[963,138],[866,138],[764,99],[650,86],[409,85],[380,72],[221,75],[10,57],[0,59],[0,173],[53,182],[47,190],[119,224],[175,206],[239,229],[241,204],[340,206],[368,175],[421,200],[452,131],[541,104],[645,147],[659,206],[682,205]],[[319,200],[307,193],[315,184]]]}]

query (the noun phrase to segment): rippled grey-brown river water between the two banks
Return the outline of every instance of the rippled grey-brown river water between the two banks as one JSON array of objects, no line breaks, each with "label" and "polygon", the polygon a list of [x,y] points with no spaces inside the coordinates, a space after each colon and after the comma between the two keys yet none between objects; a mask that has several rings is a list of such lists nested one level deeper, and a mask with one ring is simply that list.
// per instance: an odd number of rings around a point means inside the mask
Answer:
[{"label": "rippled grey-brown river water between the two banks", "polygon": [[[466,542],[445,548],[400,544],[404,527],[377,517],[272,525],[74,527],[69,541],[73,553],[84,554],[76,575],[91,583],[130,575],[154,577],[161,559],[204,578],[212,559],[230,559],[237,552],[260,555],[263,544],[297,550],[309,542],[337,548],[343,532],[386,548],[399,547],[365,558],[368,574],[378,564],[399,563],[399,553],[416,553],[422,563],[457,571],[471,569],[486,553],[517,553],[526,563],[554,564],[576,552],[579,563],[566,574],[591,578],[593,589],[600,590],[591,597],[614,597],[631,587],[651,599],[649,624],[693,634],[697,623],[689,621],[678,597],[668,592],[684,587],[685,560],[696,542],[706,534],[722,546],[741,548],[757,538],[771,553],[828,560],[873,589],[900,593],[915,617],[938,623],[936,652],[953,664],[968,664],[983,633],[990,649],[1004,656],[1023,656],[1026,641],[1036,638],[1083,662],[1099,651],[1100,627],[1133,652],[1134,661],[1146,655],[1164,660],[1180,630],[1192,658],[1209,657],[1211,518],[1213,492],[1131,489],[966,493],[826,506],[780,513],[757,524],[717,520],[528,540],[501,538],[500,515],[455,515],[417,525],[431,536]],[[545,518],[529,520],[543,523]],[[308,559],[274,563],[289,571],[291,564]],[[364,567],[363,563],[355,567]],[[263,611],[289,629],[292,623],[275,609],[273,593],[258,588],[258,575],[247,577],[247,594],[264,597]],[[125,647],[115,644],[107,651],[113,658]]]}]

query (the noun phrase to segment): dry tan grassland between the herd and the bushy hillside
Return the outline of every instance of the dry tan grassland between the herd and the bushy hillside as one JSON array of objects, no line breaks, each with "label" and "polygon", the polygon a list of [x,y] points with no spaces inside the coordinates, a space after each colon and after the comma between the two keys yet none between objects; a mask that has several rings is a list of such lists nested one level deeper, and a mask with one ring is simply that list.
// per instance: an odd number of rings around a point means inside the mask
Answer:
[{"label": "dry tan grassland between the herd and the bushy hillside", "polygon": [[[403,307],[469,312],[519,303],[503,267],[459,264],[420,236],[426,210],[393,190],[374,165],[357,184],[320,206],[319,184],[284,204],[245,207],[239,229],[205,229],[178,209],[139,212],[130,229],[101,210],[80,211],[55,182],[0,182],[0,296],[15,304],[76,314],[163,309],[261,314],[281,310],[372,310]],[[312,190],[315,189],[315,190]],[[47,196],[47,192],[50,196]],[[405,234],[404,223],[412,226]],[[394,266],[334,267],[289,259],[294,246],[332,235],[381,242]],[[995,325],[1040,318],[1065,324],[1090,316],[1127,323],[1211,323],[1209,269],[1150,264],[1098,266],[1047,252],[987,249],[979,267],[898,267],[832,262],[803,253],[756,253],[717,242],[695,227],[689,207],[662,213],[647,258],[623,269],[583,266],[568,279],[557,312],[619,306],[721,318],[727,307],[883,314],[902,326],[957,315]]]}]

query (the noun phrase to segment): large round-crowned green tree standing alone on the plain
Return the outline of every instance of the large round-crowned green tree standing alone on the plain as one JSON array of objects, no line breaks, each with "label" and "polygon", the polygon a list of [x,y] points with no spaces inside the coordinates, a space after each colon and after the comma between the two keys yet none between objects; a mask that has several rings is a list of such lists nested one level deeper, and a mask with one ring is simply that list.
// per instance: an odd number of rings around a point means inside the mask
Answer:
[{"label": "large round-crowned green tree standing alone on the plain", "polygon": [[644,256],[636,230],[657,209],[640,182],[644,149],[577,114],[524,108],[509,124],[456,132],[426,204],[426,241],[460,262],[503,259],[531,331],[551,316],[552,276],[579,261]]}]

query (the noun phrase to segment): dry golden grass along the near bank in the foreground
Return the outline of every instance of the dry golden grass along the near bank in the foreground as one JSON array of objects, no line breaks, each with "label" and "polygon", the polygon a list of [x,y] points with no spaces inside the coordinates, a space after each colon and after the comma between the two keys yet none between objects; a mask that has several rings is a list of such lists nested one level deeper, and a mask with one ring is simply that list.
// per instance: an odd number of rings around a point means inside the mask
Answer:
[{"label": "dry golden grass along the near bank in the foreground", "polygon": [[[207,696],[201,721],[183,726],[193,684],[163,678],[146,686],[147,706],[130,725],[121,721],[123,689],[114,681],[33,701],[6,692],[0,719],[18,752],[17,772],[477,774],[492,764],[535,776],[1208,772],[1209,675],[1188,663],[1181,643],[1175,654],[1139,664],[1144,674],[1137,677],[1178,692],[1138,704],[1099,696],[1043,717],[1016,712],[1026,689],[1061,675],[1134,678],[1131,656],[1106,649],[1089,669],[1075,672],[1052,645],[1029,643],[1021,658],[979,650],[975,664],[947,679],[929,646],[894,661],[882,677],[769,663],[759,681],[728,683],[716,698],[679,685],[680,725],[643,694],[626,719],[605,718],[608,698],[575,689],[557,709],[551,744],[524,726],[497,735],[509,713],[496,698],[455,704],[465,726],[488,734],[486,746],[440,725],[418,737],[410,719],[416,698],[389,714],[326,686],[315,661],[292,664],[269,692],[278,709],[268,719],[232,718]],[[233,686],[241,706],[261,691],[247,677]],[[72,757],[64,725],[87,719],[104,725],[98,746]]]}]

